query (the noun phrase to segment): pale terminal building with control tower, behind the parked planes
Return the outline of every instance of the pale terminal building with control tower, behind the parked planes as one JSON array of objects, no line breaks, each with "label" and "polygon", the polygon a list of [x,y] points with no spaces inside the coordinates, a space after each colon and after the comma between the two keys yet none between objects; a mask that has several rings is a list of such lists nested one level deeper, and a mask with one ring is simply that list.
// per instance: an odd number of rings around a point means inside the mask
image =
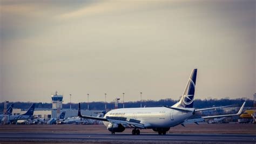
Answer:
[{"label": "pale terminal building with control tower, behind the parked planes", "polygon": [[[65,112],[65,119],[70,118],[72,116],[78,115],[78,109],[63,109],[62,102],[63,102],[63,95],[58,95],[57,92],[55,95],[51,95],[51,102],[52,108],[35,108],[34,116],[38,116],[38,118],[57,118],[62,112]],[[98,113],[101,113],[103,110],[89,110],[89,109],[81,109],[82,115],[89,115],[89,116],[97,116]],[[14,115],[20,115],[26,113],[26,109],[13,109],[12,113]]]}]

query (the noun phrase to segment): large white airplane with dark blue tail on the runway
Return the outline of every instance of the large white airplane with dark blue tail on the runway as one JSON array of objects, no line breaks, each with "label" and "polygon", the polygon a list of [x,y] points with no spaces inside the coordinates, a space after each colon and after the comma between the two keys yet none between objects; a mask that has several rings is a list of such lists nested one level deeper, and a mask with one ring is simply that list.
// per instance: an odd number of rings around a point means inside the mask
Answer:
[{"label": "large white airplane with dark blue tail on the runway", "polygon": [[[183,124],[188,118],[198,111],[215,109],[227,106],[212,107],[212,108],[193,108],[194,91],[196,88],[197,69],[192,70],[190,78],[188,78],[183,95],[180,100],[171,107],[141,107],[141,108],[119,108],[107,112],[104,118],[95,116],[82,115],[80,111],[80,103],[78,104],[78,116],[85,119],[102,120],[103,124],[111,132],[123,132],[125,128],[132,128],[132,135],[139,135],[139,129],[153,129],[159,135],[165,135],[170,127]],[[220,118],[224,116],[239,115],[244,108],[242,104],[237,114],[201,116],[203,119]]]}]

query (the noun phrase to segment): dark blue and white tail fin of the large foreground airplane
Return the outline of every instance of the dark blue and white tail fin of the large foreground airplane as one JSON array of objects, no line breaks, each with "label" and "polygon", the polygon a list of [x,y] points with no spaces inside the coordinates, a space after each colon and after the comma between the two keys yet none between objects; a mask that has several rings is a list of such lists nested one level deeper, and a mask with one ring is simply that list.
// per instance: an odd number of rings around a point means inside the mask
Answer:
[{"label": "dark blue and white tail fin of the large foreground airplane", "polygon": [[196,80],[197,80],[197,69],[192,70],[190,78],[187,81],[187,85],[181,96],[179,102],[177,102],[172,107],[185,107],[192,108],[194,102],[194,91],[196,90]]}]

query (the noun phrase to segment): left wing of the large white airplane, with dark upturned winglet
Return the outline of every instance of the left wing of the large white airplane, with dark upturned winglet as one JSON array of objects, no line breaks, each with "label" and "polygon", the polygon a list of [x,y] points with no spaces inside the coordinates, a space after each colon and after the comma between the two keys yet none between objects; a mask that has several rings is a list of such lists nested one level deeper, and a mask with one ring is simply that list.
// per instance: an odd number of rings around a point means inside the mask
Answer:
[{"label": "left wing of the large white airplane, with dark upturned winglet", "polygon": [[106,118],[99,118],[99,117],[96,117],[96,116],[82,115],[81,110],[80,110],[80,103],[78,104],[78,116],[80,118],[85,118],[85,119],[109,121],[112,124],[121,124],[124,127],[125,126],[131,126],[131,127],[137,127],[137,128],[145,128],[144,125],[141,124],[139,120],[135,120],[135,119],[127,120],[127,118],[116,117],[116,116],[106,116]]}]

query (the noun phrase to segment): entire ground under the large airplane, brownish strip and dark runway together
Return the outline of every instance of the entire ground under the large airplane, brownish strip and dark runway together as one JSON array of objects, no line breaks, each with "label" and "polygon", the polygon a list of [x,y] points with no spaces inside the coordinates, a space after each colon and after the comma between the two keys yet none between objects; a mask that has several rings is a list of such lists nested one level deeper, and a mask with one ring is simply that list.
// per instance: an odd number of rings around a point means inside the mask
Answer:
[{"label": "entire ground under the large airplane, brownish strip and dark runway together", "polygon": [[111,135],[104,125],[1,125],[0,143],[256,143],[253,124],[191,124],[172,127],[166,135],[131,130]]}]

